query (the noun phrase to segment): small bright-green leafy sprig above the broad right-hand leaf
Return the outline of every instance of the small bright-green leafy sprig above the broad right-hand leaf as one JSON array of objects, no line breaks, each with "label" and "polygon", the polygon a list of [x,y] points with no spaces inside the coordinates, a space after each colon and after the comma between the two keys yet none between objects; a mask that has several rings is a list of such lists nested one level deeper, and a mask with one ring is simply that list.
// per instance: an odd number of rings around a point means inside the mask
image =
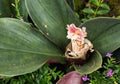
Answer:
[{"label": "small bright-green leafy sprig above the broad right-hand leaf", "polygon": [[104,3],[104,0],[89,0],[87,7],[82,11],[86,18],[90,19],[96,16],[107,14],[110,11],[110,7]]}]

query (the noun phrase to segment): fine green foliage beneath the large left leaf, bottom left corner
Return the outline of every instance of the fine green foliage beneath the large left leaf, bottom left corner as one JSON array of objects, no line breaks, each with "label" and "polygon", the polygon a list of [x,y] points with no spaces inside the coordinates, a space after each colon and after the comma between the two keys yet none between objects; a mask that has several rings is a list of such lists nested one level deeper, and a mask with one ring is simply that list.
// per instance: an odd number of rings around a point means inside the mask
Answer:
[{"label": "fine green foliage beneath the large left leaf, bottom left corner", "polygon": [[16,76],[12,78],[2,78],[0,84],[53,84],[63,76],[63,72],[57,71],[57,68],[50,68],[45,64],[35,72]]}]

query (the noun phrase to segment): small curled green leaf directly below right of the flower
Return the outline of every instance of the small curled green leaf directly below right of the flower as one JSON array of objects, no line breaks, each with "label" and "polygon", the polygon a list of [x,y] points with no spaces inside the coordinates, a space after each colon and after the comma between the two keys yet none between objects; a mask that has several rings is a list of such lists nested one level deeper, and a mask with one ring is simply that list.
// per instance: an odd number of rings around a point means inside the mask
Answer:
[{"label": "small curled green leaf directly below right of the flower", "polygon": [[98,51],[94,51],[84,65],[74,67],[81,74],[90,74],[96,71],[97,69],[101,68],[101,65],[102,56]]}]

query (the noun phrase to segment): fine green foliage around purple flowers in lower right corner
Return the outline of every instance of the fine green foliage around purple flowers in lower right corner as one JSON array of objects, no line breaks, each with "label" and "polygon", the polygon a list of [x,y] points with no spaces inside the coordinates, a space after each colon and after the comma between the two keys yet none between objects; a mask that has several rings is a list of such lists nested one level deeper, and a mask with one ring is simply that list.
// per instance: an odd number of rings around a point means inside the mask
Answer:
[{"label": "fine green foliage around purple flowers in lower right corner", "polygon": [[[115,58],[107,58],[107,61],[103,64],[103,68],[99,71],[95,71],[89,75],[90,83],[92,84],[119,84],[120,83],[120,64],[116,64]],[[109,69],[114,71],[112,77],[107,77],[106,73]]]}]

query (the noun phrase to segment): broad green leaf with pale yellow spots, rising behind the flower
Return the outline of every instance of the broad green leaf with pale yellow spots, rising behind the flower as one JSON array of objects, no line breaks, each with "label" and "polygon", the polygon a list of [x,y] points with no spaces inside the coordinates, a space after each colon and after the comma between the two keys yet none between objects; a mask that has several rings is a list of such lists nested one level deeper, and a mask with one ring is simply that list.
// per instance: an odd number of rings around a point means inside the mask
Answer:
[{"label": "broad green leaf with pale yellow spots, rising behind the flower", "polygon": [[34,24],[54,44],[64,49],[67,24],[80,24],[65,0],[25,0]]}]

